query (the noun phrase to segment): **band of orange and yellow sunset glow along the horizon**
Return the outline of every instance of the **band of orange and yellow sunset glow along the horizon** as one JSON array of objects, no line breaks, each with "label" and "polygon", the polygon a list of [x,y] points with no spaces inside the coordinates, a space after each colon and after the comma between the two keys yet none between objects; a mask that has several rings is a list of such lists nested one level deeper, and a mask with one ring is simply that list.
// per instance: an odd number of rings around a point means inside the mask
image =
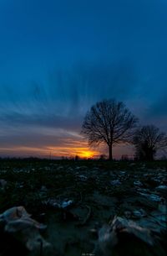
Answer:
[{"label": "band of orange and yellow sunset glow along the horizon", "polygon": [[[68,140],[68,139],[67,139]],[[72,141],[71,141],[72,143]],[[38,158],[74,158],[78,155],[80,159],[97,159],[101,154],[108,157],[108,150],[104,144],[99,147],[89,148],[86,141],[75,141],[73,144],[60,144],[57,146],[47,145],[41,148],[30,146],[14,146],[10,148],[0,148],[0,157],[38,157]],[[120,159],[123,154],[127,154],[129,158],[133,158],[133,150],[131,146],[118,145],[114,147],[114,158]]]}]

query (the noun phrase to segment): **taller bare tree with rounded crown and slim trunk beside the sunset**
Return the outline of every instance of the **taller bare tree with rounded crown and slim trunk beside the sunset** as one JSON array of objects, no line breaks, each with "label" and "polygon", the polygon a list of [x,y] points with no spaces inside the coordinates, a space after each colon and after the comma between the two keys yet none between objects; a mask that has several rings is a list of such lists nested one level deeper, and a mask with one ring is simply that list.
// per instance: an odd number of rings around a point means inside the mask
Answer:
[{"label": "taller bare tree with rounded crown and slim trunk beside the sunset", "polygon": [[136,123],[137,118],[123,102],[104,100],[87,112],[81,133],[88,138],[89,145],[107,144],[109,159],[113,159],[113,145],[129,141]]}]

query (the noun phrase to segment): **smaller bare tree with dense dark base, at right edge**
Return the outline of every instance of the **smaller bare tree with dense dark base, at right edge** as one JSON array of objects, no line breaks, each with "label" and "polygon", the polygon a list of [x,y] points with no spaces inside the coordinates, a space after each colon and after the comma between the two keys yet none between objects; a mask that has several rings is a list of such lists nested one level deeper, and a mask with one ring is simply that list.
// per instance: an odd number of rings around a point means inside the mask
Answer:
[{"label": "smaller bare tree with dense dark base, at right edge", "polygon": [[153,160],[159,149],[167,147],[165,133],[160,133],[154,125],[146,125],[135,131],[133,142],[137,159]]}]

